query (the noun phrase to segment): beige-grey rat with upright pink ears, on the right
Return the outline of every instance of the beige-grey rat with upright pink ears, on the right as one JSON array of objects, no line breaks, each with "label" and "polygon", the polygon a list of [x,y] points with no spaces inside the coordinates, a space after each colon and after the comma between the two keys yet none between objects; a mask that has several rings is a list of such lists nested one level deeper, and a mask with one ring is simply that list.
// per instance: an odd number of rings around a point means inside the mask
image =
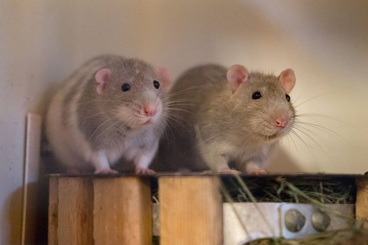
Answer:
[{"label": "beige-grey rat with upright pink ears, on the right", "polygon": [[272,149],[293,126],[293,70],[276,77],[202,65],[184,73],[170,91],[171,134],[162,138],[158,170],[265,173]]}]

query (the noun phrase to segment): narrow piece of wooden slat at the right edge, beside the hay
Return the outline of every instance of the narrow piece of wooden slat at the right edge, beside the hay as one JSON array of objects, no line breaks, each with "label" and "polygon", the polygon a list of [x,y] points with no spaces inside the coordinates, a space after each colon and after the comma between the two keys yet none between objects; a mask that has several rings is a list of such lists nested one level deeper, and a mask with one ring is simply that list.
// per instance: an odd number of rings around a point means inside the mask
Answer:
[{"label": "narrow piece of wooden slat at the right edge, beside the hay", "polygon": [[368,179],[358,177],[357,201],[355,202],[355,215],[357,219],[365,219],[364,227],[368,229]]}]

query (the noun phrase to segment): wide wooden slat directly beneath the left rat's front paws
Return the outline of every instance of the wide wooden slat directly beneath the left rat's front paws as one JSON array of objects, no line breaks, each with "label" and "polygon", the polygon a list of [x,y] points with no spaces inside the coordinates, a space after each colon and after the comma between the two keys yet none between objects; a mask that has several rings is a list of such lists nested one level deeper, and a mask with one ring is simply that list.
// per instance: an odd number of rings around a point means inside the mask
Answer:
[{"label": "wide wooden slat directly beneath the left rat's front paws", "polygon": [[147,177],[93,180],[95,245],[152,245],[152,200]]}]

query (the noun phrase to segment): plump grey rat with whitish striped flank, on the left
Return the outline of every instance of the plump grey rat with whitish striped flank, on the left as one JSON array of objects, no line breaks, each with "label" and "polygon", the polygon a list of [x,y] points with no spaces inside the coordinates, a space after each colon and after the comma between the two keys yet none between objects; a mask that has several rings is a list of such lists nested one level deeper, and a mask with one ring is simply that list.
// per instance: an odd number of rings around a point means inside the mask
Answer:
[{"label": "plump grey rat with whitish striped flank, on the left", "polygon": [[117,173],[119,161],[148,169],[164,132],[163,103],[171,85],[166,68],[104,55],[78,68],[50,103],[46,135],[70,171]]}]

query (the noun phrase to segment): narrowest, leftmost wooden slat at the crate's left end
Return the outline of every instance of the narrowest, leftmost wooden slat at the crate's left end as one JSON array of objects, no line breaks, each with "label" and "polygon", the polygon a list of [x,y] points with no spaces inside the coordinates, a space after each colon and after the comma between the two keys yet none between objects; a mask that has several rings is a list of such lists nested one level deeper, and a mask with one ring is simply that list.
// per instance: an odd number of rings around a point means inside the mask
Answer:
[{"label": "narrowest, leftmost wooden slat at the crate's left end", "polygon": [[57,212],[59,209],[59,181],[57,177],[50,177],[49,191],[49,235],[48,244],[57,245]]}]

